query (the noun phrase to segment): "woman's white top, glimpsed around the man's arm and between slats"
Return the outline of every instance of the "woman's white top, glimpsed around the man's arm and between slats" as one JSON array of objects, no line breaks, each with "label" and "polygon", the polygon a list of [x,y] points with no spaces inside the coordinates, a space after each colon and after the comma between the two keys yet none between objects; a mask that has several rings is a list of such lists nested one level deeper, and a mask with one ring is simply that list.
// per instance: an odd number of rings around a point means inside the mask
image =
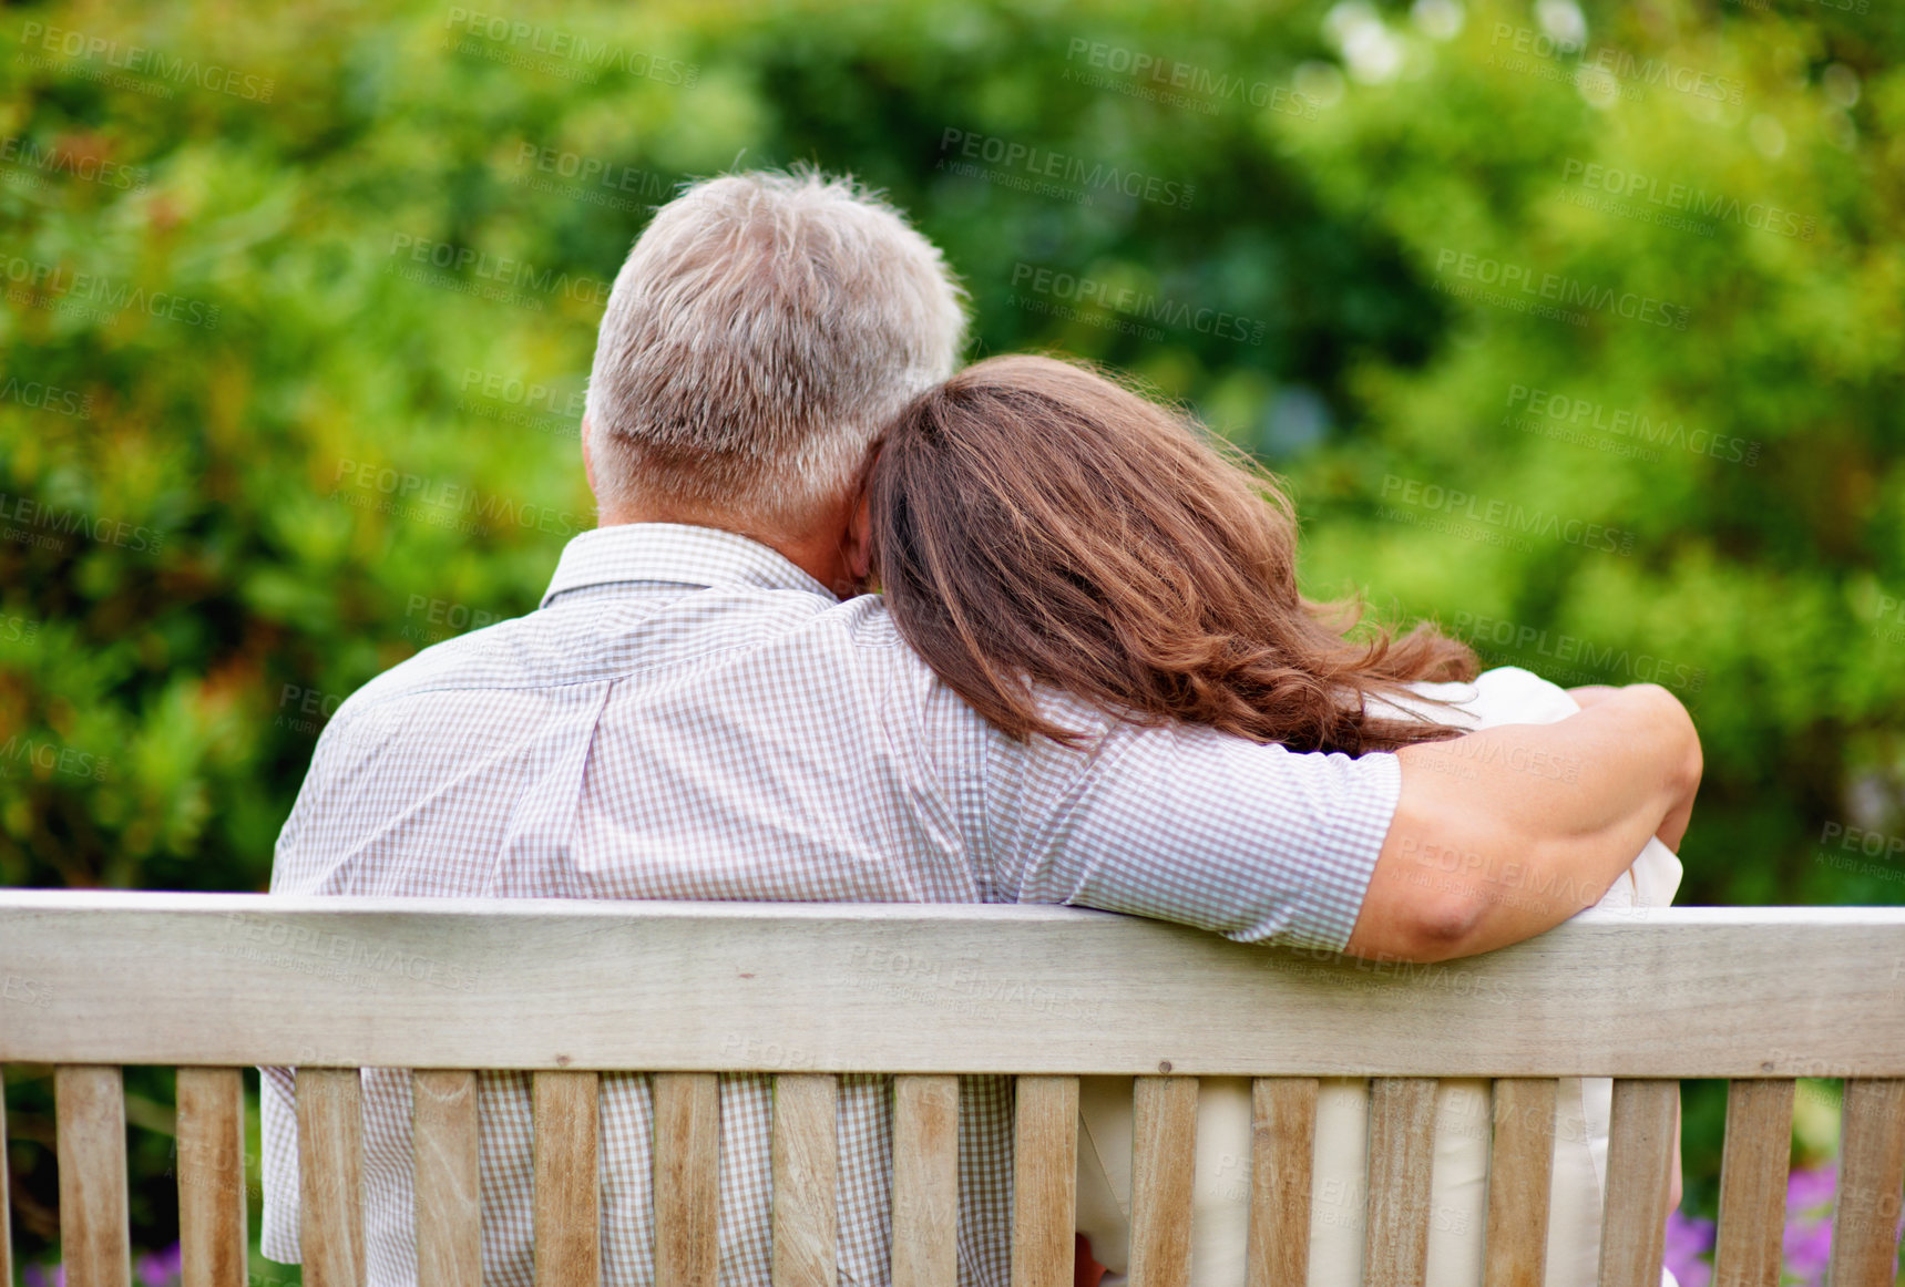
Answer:
[{"label": "woman's white top, glimpsed around the man's arm and between slats", "polygon": [[[1518,666],[1488,670],[1474,683],[1410,687],[1423,697],[1455,703],[1455,708],[1417,706],[1431,720],[1474,729],[1554,723],[1579,710],[1566,689]],[[1394,710],[1389,703],[1383,706]],[[1614,881],[1596,906],[1667,906],[1680,887],[1680,859],[1659,840],[1648,840],[1633,868]],[[1213,1015],[1212,1022],[1223,1022],[1223,1017]],[[1560,1079],[1543,1287],[1593,1287],[1596,1281],[1612,1106],[1612,1079]],[[1078,1232],[1092,1239],[1092,1255],[1111,1270],[1103,1287],[1122,1287],[1132,1215],[1132,1079],[1080,1078],[1078,1114]],[[1309,1287],[1356,1287],[1362,1281],[1368,1119],[1366,1079],[1320,1081]],[[1244,1287],[1250,1079],[1204,1078],[1196,1131],[1191,1287]],[[1488,1144],[1488,1079],[1444,1078],[1436,1091],[1425,1287],[1471,1287],[1482,1281]],[[1663,1287],[1678,1287],[1665,1270],[1661,1281]]]}]

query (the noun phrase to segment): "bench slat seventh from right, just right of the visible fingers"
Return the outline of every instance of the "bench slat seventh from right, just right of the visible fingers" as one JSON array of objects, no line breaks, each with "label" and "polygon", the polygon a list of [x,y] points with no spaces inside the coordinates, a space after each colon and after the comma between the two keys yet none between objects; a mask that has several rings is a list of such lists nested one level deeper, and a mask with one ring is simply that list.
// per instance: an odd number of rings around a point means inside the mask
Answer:
[{"label": "bench slat seventh from right, just right of the visible fingers", "polygon": [[1132,1287],[1189,1287],[1196,1078],[1132,1087]]}]

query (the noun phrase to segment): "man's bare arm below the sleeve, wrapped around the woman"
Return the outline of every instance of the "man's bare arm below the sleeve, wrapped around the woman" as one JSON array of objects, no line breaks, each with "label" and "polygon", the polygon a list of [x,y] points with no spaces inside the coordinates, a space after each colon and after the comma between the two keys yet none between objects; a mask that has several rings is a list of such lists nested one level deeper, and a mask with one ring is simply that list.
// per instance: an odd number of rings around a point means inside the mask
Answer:
[{"label": "man's bare arm below the sleeve, wrapped around the woman", "polygon": [[1490,952],[1593,906],[1650,836],[1680,842],[1701,773],[1694,722],[1657,683],[1396,760],[1402,796],[1345,950],[1402,961]]}]

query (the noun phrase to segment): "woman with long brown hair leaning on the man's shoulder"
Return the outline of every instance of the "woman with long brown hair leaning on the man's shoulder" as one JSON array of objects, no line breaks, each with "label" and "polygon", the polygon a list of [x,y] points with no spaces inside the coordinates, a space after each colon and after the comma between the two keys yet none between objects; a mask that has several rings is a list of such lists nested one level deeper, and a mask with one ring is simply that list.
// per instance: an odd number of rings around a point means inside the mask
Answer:
[{"label": "woman with long brown hair leaning on the man's shoulder", "polygon": [[[1486,723],[1547,723],[1575,701],[1526,670],[1476,676],[1433,626],[1366,630],[1354,604],[1297,592],[1290,501],[1242,453],[1082,367],[979,362],[916,398],[869,485],[872,573],[907,642],[1015,739],[1078,742],[1042,689],[1145,723],[1204,723],[1360,756]],[[1602,906],[1665,904],[1680,864],[1650,842]],[[1593,1283],[1612,1081],[1562,1079],[1547,1287]],[[1360,1281],[1366,1085],[1318,1100],[1311,1281]],[[1080,1083],[1080,1232],[1124,1270],[1132,1081]],[[1194,1287],[1240,1287],[1250,1085],[1198,1100]],[[1429,1287],[1480,1281],[1488,1083],[1438,1095]],[[1671,1281],[1671,1279],[1669,1279]]]}]

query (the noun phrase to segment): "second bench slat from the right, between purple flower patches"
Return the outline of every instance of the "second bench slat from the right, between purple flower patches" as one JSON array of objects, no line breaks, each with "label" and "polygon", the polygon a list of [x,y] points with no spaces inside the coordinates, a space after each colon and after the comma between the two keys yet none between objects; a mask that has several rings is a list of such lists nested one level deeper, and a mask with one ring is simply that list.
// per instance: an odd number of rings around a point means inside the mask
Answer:
[{"label": "second bench slat from the right, between purple flower patches", "polygon": [[1791,1078],[1734,1079],[1726,1087],[1713,1276],[1730,1287],[1779,1287],[1793,1089]]}]

